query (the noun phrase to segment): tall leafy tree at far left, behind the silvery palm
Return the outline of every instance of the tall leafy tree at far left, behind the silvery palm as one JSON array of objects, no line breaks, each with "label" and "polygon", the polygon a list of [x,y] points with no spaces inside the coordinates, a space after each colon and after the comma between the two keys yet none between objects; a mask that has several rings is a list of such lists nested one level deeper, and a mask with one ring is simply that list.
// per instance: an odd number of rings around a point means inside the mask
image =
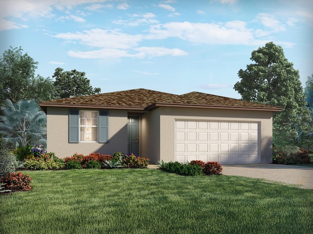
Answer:
[{"label": "tall leafy tree at far left, behind the silvery palm", "polygon": [[[50,98],[53,81],[35,77],[38,62],[23,54],[22,48],[12,48],[3,52],[0,58],[0,104],[9,98],[13,102],[21,99],[44,100]],[[38,87],[42,92],[38,93]],[[53,98],[53,97],[51,97]]]}]

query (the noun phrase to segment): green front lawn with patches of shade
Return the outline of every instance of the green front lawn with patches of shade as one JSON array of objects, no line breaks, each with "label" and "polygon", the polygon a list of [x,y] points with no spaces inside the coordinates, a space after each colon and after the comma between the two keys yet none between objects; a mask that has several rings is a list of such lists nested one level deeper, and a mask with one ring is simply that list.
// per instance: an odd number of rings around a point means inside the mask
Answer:
[{"label": "green front lawn with patches of shade", "polygon": [[153,169],[23,173],[33,190],[0,196],[4,234],[312,233],[313,190]]}]

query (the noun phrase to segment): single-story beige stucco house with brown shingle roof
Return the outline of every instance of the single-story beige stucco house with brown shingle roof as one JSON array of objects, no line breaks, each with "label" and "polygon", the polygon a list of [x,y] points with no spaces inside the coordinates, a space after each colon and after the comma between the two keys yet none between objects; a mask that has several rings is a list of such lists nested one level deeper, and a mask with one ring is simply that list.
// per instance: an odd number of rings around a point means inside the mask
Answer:
[{"label": "single-story beige stucco house with brown shingle roof", "polygon": [[157,160],[271,163],[272,114],[282,108],[199,92],[134,89],[40,102],[47,151],[134,153]]}]

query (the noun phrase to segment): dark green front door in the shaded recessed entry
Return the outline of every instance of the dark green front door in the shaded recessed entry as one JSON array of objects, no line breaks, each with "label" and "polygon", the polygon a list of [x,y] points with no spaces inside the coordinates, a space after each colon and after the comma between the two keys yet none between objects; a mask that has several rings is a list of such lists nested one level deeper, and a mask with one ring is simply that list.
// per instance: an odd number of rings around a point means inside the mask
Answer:
[{"label": "dark green front door in the shaded recessed entry", "polygon": [[127,122],[128,153],[139,156],[139,117],[129,116]]}]

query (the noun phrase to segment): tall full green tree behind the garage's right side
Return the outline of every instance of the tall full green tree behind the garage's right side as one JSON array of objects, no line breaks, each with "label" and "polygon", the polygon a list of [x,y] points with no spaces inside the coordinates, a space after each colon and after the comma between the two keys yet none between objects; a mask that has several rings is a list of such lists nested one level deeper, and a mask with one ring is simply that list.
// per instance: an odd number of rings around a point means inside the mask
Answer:
[{"label": "tall full green tree behind the garage's right side", "polygon": [[240,69],[240,81],[234,89],[247,101],[280,106],[273,114],[273,142],[282,146],[294,144],[297,130],[308,130],[310,120],[298,70],[285,58],[283,48],[268,42],[254,50],[246,70]]}]

